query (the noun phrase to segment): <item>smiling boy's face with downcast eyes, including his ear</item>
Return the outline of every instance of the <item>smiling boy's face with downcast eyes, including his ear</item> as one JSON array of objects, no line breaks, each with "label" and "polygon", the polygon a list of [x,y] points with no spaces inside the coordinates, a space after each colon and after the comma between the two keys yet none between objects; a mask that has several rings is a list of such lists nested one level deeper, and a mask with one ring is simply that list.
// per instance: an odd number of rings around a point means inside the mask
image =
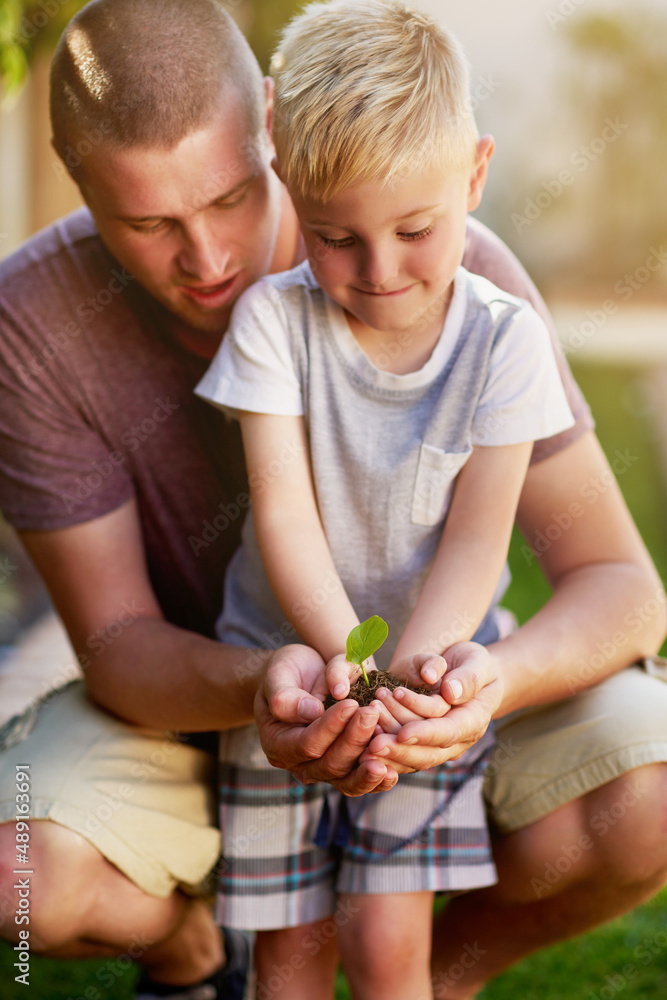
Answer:
[{"label": "smiling boy's face with downcast eyes, including his ear", "polygon": [[385,188],[356,183],[326,204],[290,192],[315,279],[355,334],[439,332],[492,148],[482,140],[467,172],[432,167]]}]

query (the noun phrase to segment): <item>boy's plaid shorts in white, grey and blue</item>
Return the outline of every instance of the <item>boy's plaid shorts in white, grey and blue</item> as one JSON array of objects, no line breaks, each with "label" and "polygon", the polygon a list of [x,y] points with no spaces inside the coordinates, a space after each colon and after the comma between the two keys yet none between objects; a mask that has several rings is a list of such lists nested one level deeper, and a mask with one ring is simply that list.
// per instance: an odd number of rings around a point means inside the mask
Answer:
[{"label": "boy's plaid shorts in white, grey and blue", "polygon": [[[488,733],[460,760],[401,775],[388,792],[348,799],[272,767],[255,726],[221,734],[224,854],[217,920],[241,930],[330,917],[337,893],[404,893],[492,885],[482,801]],[[323,817],[344,842],[323,840]]]}]

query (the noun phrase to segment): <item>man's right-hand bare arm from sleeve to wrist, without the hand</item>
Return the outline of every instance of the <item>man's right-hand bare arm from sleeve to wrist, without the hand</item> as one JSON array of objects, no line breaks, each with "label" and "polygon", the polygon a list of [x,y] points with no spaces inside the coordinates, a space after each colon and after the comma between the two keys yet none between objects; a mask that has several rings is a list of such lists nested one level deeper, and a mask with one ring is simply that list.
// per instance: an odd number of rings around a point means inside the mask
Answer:
[{"label": "man's right-hand bare arm from sleeve to wrist, without the hand", "polygon": [[553,596],[493,647],[498,714],[598,684],[657,652],[667,631],[664,588],[594,434],[531,466],[518,523],[529,543],[564,527],[538,556]]}]

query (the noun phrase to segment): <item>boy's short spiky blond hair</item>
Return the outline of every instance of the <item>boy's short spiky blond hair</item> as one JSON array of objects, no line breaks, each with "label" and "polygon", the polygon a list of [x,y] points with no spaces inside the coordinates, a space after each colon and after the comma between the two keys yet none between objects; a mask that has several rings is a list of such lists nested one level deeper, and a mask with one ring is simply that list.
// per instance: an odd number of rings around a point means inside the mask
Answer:
[{"label": "boy's short spiky blond hair", "polygon": [[271,68],[280,172],[301,194],[326,201],[357,181],[474,162],[461,46],[403,3],[311,4],[284,29]]}]

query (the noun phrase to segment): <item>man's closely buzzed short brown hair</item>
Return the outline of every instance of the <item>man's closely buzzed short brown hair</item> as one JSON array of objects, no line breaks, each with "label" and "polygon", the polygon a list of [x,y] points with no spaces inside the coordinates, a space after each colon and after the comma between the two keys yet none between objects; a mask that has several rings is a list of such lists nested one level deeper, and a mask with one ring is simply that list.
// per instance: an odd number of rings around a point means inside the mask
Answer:
[{"label": "man's closely buzzed short brown hair", "polygon": [[209,125],[230,94],[249,137],[265,120],[261,70],[216,0],[93,0],[70,21],[51,66],[54,145],[85,132],[119,148],[173,148]]}]

